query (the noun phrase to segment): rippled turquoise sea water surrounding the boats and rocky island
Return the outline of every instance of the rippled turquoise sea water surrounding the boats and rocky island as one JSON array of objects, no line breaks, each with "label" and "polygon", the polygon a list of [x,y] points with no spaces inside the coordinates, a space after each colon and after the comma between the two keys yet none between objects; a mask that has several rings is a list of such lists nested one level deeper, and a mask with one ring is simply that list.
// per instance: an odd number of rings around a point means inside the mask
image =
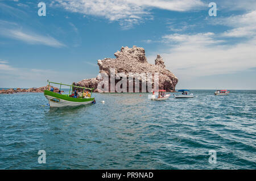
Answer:
[{"label": "rippled turquoise sea water surrounding the boats and rocky island", "polygon": [[96,104],[51,109],[42,93],[2,94],[0,169],[256,169],[256,91],[213,92],[94,94]]}]

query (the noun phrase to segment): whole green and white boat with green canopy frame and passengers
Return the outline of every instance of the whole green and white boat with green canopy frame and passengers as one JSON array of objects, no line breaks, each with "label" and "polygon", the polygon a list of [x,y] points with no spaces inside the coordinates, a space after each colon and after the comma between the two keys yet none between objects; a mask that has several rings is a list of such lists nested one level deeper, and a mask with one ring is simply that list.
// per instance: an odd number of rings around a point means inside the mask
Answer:
[{"label": "whole green and white boat with green canopy frame and passengers", "polygon": [[[94,102],[94,98],[92,97],[93,89],[90,89],[87,87],[67,85],[63,83],[56,83],[56,82],[49,82],[49,81],[47,82],[49,83],[49,86],[50,86],[50,83],[60,85],[60,89],[61,89],[61,85],[70,87],[69,94],[59,94],[50,90],[44,90],[44,96],[46,96],[46,99],[48,99],[50,107],[80,106],[80,105],[90,104]],[[72,96],[70,96],[74,87],[82,90],[82,94],[78,98],[73,98]],[[90,90],[90,96],[83,96],[85,90]]]}]

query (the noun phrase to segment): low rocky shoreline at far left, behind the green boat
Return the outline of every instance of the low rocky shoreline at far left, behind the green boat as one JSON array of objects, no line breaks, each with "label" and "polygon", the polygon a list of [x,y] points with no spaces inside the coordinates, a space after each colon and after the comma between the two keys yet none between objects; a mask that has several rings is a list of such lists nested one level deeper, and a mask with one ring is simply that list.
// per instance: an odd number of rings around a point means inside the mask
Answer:
[{"label": "low rocky shoreline at far left, behind the green boat", "polygon": [[[57,87],[53,87],[54,88],[54,92],[59,92],[59,89]],[[30,89],[20,89],[20,88],[16,88],[16,89],[2,89],[0,90],[0,94],[15,94],[15,93],[20,93],[20,92],[44,92],[44,90],[48,90],[49,89],[49,85],[44,86],[44,87],[39,87],[39,88],[30,88]]]}]

